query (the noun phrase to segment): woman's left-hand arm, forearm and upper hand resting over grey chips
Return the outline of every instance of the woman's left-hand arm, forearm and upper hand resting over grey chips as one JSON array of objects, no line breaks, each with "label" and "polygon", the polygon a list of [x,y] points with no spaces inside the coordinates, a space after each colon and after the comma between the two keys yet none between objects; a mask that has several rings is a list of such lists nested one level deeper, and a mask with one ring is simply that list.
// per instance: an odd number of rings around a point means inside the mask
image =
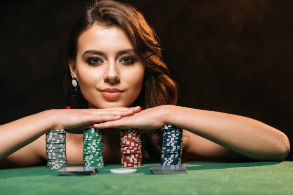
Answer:
[{"label": "woman's left-hand arm, forearm and upper hand resting over grey chips", "polygon": [[[61,109],[48,110],[23,117],[19,120],[0,126],[0,160],[32,141],[41,137],[50,129],[74,129],[92,127],[93,123],[117,120],[139,112],[140,108],[108,108],[108,109]],[[32,148],[22,150],[29,154]],[[26,154],[24,154],[26,153]],[[28,159],[29,160],[29,159]]]}]

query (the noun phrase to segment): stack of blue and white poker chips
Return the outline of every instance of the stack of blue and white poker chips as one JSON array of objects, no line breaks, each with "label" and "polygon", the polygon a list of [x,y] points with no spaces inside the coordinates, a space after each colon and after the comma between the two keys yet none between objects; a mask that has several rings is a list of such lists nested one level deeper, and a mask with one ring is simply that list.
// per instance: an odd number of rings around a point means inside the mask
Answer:
[{"label": "stack of blue and white poker chips", "polygon": [[182,155],[182,129],[173,125],[163,127],[161,165],[180,165]]}]

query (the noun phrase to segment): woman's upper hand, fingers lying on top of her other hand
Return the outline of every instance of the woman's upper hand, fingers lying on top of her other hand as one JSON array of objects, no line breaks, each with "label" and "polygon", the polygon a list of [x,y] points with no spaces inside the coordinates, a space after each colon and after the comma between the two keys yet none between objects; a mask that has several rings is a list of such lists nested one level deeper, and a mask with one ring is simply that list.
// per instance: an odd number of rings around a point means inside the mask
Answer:
[{"label": "woman's upper hand, fingers lying on top of her other hand", "polygon": [[92,128],[95,123],[119,120],[140,112],[140,107],[114,107],[105,109],[62,109],[51,110],[52,129],[66,129],[69,133],[82,133],[84,128]]}]

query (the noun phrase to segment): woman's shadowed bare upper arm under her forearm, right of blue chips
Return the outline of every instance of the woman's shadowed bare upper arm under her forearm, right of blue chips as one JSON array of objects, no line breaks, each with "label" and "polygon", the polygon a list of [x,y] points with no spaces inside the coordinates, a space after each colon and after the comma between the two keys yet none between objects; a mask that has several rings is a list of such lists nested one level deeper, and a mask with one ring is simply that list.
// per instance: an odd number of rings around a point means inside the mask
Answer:
[{"label": "woman's shadowed bare upper arm under her forearm, right of blue chips", "polygon": [[249,160],[204,137],[183,130],[183,160]]}]

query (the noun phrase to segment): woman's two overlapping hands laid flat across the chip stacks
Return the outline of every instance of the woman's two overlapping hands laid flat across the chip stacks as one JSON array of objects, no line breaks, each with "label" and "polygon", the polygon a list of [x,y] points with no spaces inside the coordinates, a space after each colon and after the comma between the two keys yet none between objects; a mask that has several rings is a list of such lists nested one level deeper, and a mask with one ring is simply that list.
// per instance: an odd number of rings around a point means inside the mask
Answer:
[{"label": "woman's two overlapping hands laid flat across the chip stacks", "polygon": [[[143,110],[136,107],[113,107],[105,109],[62,109],[50,110],[51,116],[58,116],[52,129],[66,129],[68,133],[82,134],[85,128],[137,128],[141,133],[165,125],[163,117],[167,105]],[[58,112],[58,114],[55,114]],[[65,119],[66,118],[66,119]]]}]

